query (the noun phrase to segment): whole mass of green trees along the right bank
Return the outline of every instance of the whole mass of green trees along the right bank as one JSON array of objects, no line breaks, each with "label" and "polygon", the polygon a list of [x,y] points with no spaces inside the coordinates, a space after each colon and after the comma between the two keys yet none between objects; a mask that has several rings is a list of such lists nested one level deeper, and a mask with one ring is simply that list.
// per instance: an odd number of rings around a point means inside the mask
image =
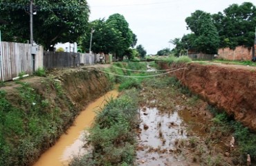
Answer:
[{"label": "whole mass of green trees along the right bank", "polygon": [[214,15],[196,10],[185,21],[192,33],[171,40],[176,45],[173,50],[175,55],[185,49],[216,53],[217,48],[251,48],[254,44],[256,8],[253,3],[232,4]]}]

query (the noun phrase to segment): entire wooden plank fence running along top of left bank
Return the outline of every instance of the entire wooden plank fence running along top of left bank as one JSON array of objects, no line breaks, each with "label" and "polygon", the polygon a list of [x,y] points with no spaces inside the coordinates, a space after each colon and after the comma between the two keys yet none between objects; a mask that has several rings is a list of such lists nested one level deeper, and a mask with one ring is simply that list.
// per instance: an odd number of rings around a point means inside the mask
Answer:
[{"label": "entire wooden plank fence running along top of left bank", "polygon": [[47,52],[42,46],[31,48],[30,44],[0,42],[0,81],[12,80],[19,73],[33,75],[42,67],[52,69],[93,65],[100,62],[101,56],[104,56],[105,62],[111,62],[109,55]]}]

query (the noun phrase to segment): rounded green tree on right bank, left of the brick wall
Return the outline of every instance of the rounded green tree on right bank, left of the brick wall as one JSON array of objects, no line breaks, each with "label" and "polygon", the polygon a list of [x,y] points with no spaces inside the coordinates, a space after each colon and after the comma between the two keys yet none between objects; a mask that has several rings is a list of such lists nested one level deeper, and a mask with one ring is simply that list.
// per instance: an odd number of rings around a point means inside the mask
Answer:
[{"label": "rounded green tree on right bank, left of the brick wall", "polygon": [[185,21],[194,33],[194,49],[202,53],[217,53],[219,34],[210,13],[196,10]]}]

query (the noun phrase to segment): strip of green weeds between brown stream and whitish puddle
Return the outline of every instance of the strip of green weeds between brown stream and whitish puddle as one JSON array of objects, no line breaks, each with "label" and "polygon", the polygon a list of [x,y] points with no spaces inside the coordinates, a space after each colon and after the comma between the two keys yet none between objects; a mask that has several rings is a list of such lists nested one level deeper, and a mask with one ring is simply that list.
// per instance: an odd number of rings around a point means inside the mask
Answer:
[{"label": "strip of green weeds between brown stream and whitish puddle", "polygon": [[136,155],[138,125],[138,92],[125,91],[120,98],[110,100],[95,117],[86,140],[93,146],[92,154],[76,156],[70,163],[77,165],[133,165]]}]

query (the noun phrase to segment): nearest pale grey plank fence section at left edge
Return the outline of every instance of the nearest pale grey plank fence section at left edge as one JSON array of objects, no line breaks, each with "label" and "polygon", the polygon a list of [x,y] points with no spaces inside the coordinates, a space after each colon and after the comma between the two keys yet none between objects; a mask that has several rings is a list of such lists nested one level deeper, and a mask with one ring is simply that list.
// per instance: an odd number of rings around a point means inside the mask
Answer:
[{"label": "nearest pale grey plank fence section at left edge", "polygon": [[12,80],[19,73],[33,74],[35,56],[31,55],[30,44],[0,42],[0,81]]}]

